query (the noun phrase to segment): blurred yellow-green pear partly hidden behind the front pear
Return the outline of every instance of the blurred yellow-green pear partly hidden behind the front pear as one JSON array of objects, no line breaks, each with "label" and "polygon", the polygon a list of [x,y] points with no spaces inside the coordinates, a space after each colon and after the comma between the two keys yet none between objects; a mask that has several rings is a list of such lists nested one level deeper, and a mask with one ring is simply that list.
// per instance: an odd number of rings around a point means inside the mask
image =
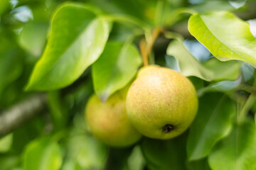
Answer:
[{"label": "blurred yellow-green pear partly hidden behind the front pear", "polygon": [[118,91],[102,103],[95,94],[87,102],[85,119],[92,135],[112,147],[127,147],[142,135],[129,122],[125,108],[128,88]]}]

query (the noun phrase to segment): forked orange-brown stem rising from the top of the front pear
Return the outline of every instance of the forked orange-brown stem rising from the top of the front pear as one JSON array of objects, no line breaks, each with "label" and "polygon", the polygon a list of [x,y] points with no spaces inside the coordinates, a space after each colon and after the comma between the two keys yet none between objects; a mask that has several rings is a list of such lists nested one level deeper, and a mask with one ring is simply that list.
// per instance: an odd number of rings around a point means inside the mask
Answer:
[{"label": "forked orange-brown stem rising from the top of the front pear", "polygon": [[151,37],[149,39],[149,42],[146,43],[146,39],[143,38],[141,42],[139,43],[139,48],[142,53],[142,60],[144,66],[149,65],[149,54],[152,50],[152,47],[154,45],[154,42],[156,41],[156,38],[159,36],[161,33],[161,28],[156,27],[153,32],[151,33]]}]

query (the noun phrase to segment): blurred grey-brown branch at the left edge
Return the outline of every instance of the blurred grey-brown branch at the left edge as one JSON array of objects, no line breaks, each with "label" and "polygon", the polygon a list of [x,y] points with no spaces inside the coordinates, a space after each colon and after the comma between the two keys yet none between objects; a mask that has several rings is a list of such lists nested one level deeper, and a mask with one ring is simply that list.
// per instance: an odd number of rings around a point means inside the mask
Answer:
[{"label": "blurred grey-brown branch at the left edge", "polygon": [[7,135],[46,108],[46,94],[37,94],[0,114],[0,137]]}]

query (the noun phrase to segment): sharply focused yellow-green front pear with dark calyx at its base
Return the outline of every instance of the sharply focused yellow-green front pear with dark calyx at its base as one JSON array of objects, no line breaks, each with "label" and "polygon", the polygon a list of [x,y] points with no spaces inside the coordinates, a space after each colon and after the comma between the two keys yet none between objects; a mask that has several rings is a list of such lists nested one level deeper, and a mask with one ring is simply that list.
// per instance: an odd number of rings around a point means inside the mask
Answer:
[{"label": "sharply focused yellow-green front pear with dark calyx at its base", "polygon": [[129,120],[142,135],[166,140],[191,125],[198,98],[193,84],[182,74],[151,65],[139,70],[126,106]]}]

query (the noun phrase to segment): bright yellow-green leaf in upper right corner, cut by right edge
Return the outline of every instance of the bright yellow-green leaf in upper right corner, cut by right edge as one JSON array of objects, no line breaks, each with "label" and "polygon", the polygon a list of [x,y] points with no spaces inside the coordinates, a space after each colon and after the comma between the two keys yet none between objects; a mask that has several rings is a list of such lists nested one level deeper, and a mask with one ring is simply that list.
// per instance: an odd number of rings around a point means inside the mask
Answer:
[{"label": "bright yellow-green leaf in upper right corner, cut by right edge", "polygon": [[241,60],[256,67],[256,40],[249,24],[233,13],[195,14],[188,20],[188,30],[218,60]]}]

